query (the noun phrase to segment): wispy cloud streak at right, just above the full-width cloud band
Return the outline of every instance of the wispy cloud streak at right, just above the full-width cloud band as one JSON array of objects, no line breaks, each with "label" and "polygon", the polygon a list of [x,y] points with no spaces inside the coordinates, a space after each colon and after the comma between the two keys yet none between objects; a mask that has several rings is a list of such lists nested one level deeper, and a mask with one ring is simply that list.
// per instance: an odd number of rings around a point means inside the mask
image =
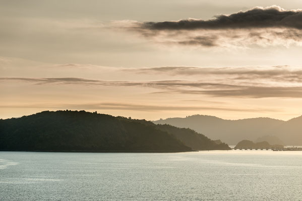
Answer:
[{"label": "wispy cloud streak at right, just above the full-width cloud band", "polygon": [[191,67],[162,66],[149,68],[129,68],[139,74],[167,74],[172,76],[214,76],[216,79],[253,80],[253,82],[269,80],[273,82],[293,82],[302,84],[302,69],[296,66],[252,66],[252,67]]}]

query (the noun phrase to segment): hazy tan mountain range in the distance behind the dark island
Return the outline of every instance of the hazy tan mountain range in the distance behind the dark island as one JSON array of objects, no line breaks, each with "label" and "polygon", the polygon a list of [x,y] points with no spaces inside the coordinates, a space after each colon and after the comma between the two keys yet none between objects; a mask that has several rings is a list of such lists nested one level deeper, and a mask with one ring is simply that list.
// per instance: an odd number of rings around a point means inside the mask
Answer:
[{"label": "hazy tan mountain range in the distance behind the dark island", "polygon": [[190,128],[213,140],[220,139],[229,145],[236,145],[241,140],[302,145],[302,116],[282,121],[271,118],[224,120],[214,116],[193,115],[186,118],[161,119],[153,123]]}]

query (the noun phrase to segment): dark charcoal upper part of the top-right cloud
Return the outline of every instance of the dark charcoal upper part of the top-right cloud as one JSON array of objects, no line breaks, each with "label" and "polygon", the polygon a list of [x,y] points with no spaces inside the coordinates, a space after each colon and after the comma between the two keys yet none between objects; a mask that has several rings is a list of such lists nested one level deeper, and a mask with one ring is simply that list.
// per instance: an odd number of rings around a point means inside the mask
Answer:
[{"label": "dark charcoal upper part of the top-right cloud", "polygon": [[212,20],[188,19],[165,22],[145,22],[142,29],[196,30],[196,29],[250,29],[293,28],[302,29],[302,10],[284,10],[278,6],[256,7],[231,15],[215,16]]}]

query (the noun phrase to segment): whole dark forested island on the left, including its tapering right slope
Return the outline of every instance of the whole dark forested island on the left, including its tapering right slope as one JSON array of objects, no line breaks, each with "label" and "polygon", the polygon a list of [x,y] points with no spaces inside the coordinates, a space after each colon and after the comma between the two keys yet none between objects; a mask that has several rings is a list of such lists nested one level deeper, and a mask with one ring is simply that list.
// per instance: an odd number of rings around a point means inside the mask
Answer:
[{"label": "whole dark forested island on the left, including its tapering right slope", "polygon": [[228,150],[191,129],[85,111],[44,111],[0,120],[0,150],[183,152]]}]

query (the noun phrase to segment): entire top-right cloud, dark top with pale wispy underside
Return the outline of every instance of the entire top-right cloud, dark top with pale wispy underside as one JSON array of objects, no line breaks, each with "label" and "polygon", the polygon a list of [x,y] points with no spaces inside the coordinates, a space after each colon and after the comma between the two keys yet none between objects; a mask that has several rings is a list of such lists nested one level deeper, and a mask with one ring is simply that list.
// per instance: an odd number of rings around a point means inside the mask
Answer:
[{"label": "entire top-right cloud, dark top with pale wispy underside", "polygon": [[124,22],[120,27],[162,44],[202,47],[302,45],[302,10],[256,7],[214,19]]}]

